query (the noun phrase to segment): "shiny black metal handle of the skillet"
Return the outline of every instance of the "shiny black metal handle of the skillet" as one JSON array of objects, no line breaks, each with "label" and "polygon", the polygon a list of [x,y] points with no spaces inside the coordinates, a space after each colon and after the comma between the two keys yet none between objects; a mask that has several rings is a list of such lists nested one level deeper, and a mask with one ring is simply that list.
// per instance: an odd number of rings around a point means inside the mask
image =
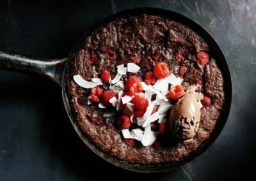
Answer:
[{"label": "shiny black metal handle of the skillet", "polygon": [[0,52],[0,69],[43,75],[61,87],[61,76],[67,59],[34,59],[24,55]]}]

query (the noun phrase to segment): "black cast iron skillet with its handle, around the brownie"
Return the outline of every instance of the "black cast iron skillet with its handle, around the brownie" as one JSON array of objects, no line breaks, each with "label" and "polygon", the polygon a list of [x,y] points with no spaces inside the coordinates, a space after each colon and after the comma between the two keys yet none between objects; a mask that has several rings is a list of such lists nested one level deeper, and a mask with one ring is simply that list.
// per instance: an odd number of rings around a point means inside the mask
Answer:
[{"label": "black cast iron skillet with its handle, around the brownie", "polygon": [[158,8],[138,8],[132,10],[125,10],[120,13],[116,13],[115,15],[111,15],[111,17],[106,18],[104,21],[100,22],[95,27],[92,27],[90,31],[86,32],[84,36],[77,42],[72,52],[70,53],[70,57],[76,52],[77,48],[83,45],[84,38],[90,35],[95,29],[97,29],[100,25],[105,24],[115,18],[120,17],[129,17],[134,15],[139,15],[141,13],[147,13],[151,15],[159,15],[161,17],[170,18],[171,20],[176,20],[181,22],[182,24],[188,25],[191,29],[193,29],[196,33],[198,33],[209,45],[211,54],[216,58],[216,62],[221,69],[221,73],[224,79],[224,92],[225,92],[225,103],[223,105],[223,110],[221,110],[220,119],[217,121],[214,130],[212,131],[210,137],[205,140],[200,147],[198,147],[195,151],[191,152],[188,156],[182,157],[179,161],[173,161],[171,163],[163,163],[163,164],[152,164],[152,165],[138,165],[125,163],[124,161],[120,161],[115,157],[111,157],[105,152],[102,152],[98,147],[96,147],[92,141],[86,138],[81,129],[77,126],[76,120],[74,119],[71,110],[70,104],[68,102],[67,90],[65,86],[65,75],[67,75],[67,69],[70,64],[70,59],[55,59],[55,60],[46,60],[46,59],[32,59],[22,55],[17,54],[8,54],[4,52],[0,52],[0,68],[2,69],[12,69],[14,71],[26,71],[32,73],[38,73],[40,75],[47,76],[54,80],[60,87],[62,87],[62,96],[65,108],[68,113],[68,117],[76,130],[77,134],[84,141],[84,143],[93,150],[98,156],[102,157],[109,163],[115,164],[116,166],[120,166],[121,168],[125,168],[127,170],[138,171],[138,172],[158,172],[158,171],[166,171],[171,170],[177,166],[188,163],[195,159],[195,157],[202,154],[218,137],[221,133],[221,130],[225,126],[225,123],[228,118],[228,114],[230,112],[231,99],[232,99],[232,83],[230,78],[230,72],[228,69],[227,61],[221,52],[220,47],[217,45],[216,41],[212,38],[212,36],[205,31],[200,25],[196,24],[193,20],[190,20],[179,13],[175,13],[173,11],[158,9]]}]

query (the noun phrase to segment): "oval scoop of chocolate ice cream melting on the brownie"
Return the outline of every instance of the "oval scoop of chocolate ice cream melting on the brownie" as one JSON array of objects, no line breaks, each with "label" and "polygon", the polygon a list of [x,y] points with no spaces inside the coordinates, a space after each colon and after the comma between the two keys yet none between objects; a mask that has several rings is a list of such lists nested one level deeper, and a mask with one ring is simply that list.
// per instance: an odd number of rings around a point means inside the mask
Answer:
[{"label": "oval scoop of chocolate ice cream melting on the brownie", "polygon": [[173,106],[170,115],[171,132],[182,140],[195,136],[200,122],[200,108],[203,94],[195,92],[196,86],[190,86],[184,96]]}]

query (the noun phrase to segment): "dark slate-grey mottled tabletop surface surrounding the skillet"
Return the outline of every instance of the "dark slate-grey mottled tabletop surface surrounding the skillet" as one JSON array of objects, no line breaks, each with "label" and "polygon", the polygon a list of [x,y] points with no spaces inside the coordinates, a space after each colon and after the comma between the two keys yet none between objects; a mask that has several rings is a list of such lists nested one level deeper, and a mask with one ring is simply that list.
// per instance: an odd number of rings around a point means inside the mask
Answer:
[{"label": "dark slate-grey mottled tabletop surface surrounding the skillet", "polygon": [[256,1],[54,2],[1,0],[0,50],[67,57],[84,31],[112,13],[145,6],[176,11],[209,31],[227,57],[234,90],[230,116],[216,142],[191,163],[131,175],[79,140],[54,83],[1,70],[0,180],[226,180],[254,174]]}]

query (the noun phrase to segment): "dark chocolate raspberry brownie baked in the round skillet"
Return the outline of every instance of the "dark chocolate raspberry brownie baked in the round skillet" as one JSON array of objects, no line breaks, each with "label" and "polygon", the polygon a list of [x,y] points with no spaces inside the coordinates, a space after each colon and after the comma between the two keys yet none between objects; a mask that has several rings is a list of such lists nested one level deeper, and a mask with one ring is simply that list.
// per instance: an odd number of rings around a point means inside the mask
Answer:
[{"label": "dark chocolate raspberry brownie baked in the round skillet", "polygon": [[[115,51],[116,59],[106,59],[109,50]],[[210,55],[210,61],[205,66],[196,61],[196,55],[201,51]],[[189,85],[200,83],[199,91],[210,97],[212,104],[201,108],[200,127],[191,140],[179,141],[172,135],[164,135],[157,138],[163,141],[160,148],[143,147],[140,142],[131,147],[124,142],[116,126],[118,113],[103,118],[104,110],[97,103],[87,105],[90,89],[79,87],[73,76],[81,75],[90,80],[108,70],[114,78],[116,66],[134,62],[141,68],[136,75],[143,77],[143,71],[152,71],[159,61],[165,62],[175,76],[179,76],[180,68],[185,67],[186,72],[180,75],[185,91]],[[188,156],[209,138],[224,101],[221,71],[207,43],[186,25],[154,15],[118,18],[87,36],[70,59],[66,86],[72,113],[84,135],[109,155],[137,164],[177,161]],[[104,90],[108,90],[108,86],[108,83],[101,85]]]}]

